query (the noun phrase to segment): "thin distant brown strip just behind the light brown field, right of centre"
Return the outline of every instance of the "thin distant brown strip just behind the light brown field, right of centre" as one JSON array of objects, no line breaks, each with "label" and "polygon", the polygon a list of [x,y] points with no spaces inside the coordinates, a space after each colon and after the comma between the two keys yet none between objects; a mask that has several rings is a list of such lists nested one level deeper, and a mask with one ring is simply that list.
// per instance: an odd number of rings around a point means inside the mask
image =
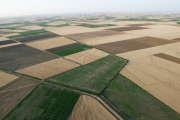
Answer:
[{"label": "thin distant brown strip just behind the light brown field, right of centre", "polygon": [[111,29],[107,29],[107,30],[124,32],[124,31],[134,31],[134,30],[142,30],[142,29],[148,29],[148,28],[145,28],[145,27],[120,27],[120,28],[111,28]]}]

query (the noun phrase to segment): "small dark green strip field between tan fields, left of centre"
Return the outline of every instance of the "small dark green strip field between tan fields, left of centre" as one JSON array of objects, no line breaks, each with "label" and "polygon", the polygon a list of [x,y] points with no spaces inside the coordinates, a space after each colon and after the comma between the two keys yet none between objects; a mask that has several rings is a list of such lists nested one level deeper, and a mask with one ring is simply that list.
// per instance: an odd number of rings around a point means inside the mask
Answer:
[{"label": "small dark green strip field between tan fields, left of centre", "polygon": [[58,55],[58,56],[67,56],[67,55],[71,55],[71,54],[81,52],[81,51],[84,51],[84,50],[88,50],[88,49],[91,49],[91,48],[92,47],[88,46],[88,45],[79,45],[79,46],[76,46],[76,47],[71,47],[71,48],[67,48],[67,49],[64,49],[64,50],[53,52],[53,54]]}]

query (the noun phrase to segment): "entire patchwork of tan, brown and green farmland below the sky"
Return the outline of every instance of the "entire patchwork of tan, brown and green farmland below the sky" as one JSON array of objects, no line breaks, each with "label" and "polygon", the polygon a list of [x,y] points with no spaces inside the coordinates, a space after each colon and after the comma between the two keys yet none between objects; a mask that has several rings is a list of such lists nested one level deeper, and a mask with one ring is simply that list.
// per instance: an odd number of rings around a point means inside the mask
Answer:
[{"label": "entire patchwork of tan, brown and green farmland below the sky", "polygon": [[1,20],[0,119],[179,120],[179,17]]}]

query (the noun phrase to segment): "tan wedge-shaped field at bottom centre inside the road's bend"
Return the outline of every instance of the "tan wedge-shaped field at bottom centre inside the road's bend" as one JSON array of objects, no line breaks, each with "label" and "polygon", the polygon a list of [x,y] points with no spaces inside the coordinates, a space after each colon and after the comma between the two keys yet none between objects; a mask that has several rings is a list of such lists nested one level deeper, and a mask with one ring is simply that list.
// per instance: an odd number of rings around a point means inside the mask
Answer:
[{"label": "tan wedge-shaped field at bottom centre inside the road's bend", "polygon": [[116,120],[97,100],[82,95],[76,103],[69,120]]}]

